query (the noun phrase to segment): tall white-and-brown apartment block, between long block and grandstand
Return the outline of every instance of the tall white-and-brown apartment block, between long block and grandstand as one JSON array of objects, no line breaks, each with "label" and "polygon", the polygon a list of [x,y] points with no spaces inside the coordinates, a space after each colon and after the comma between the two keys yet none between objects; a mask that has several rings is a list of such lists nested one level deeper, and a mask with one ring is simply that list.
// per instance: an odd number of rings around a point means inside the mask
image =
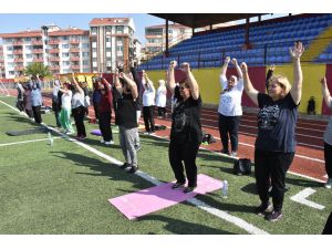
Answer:
[{"label": "tall white-and-brown apartment block, between long block and grandstand", "polygon": [[131,18],[95,18],[90,23],[92,72],[111,73],[118,62],[139,56]]}]

